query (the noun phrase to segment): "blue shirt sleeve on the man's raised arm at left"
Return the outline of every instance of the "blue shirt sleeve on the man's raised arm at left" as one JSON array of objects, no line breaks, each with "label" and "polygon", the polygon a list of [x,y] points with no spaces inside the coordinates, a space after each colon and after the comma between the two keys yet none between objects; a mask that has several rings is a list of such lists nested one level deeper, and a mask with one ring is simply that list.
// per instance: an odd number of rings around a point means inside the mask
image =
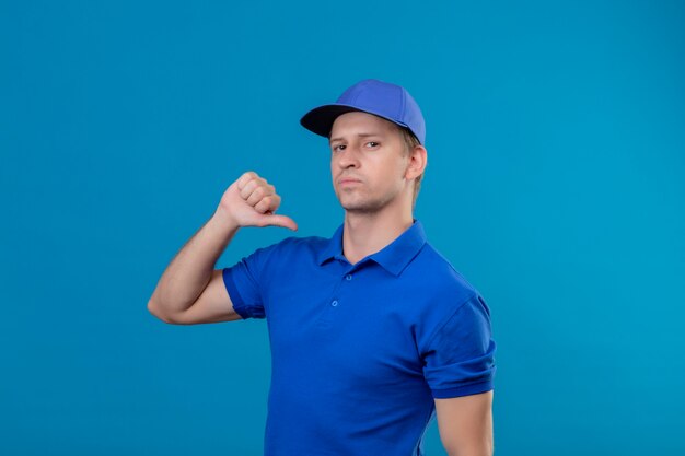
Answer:
[{"label": "blue shirt sleeve on the man's raised arm at left", "polygon": [[229,292],[233,309],[243,318],[265,318],[264,268],[266,258],[275,246],[258,248],[235,265],[223,268],[223,284]]}]

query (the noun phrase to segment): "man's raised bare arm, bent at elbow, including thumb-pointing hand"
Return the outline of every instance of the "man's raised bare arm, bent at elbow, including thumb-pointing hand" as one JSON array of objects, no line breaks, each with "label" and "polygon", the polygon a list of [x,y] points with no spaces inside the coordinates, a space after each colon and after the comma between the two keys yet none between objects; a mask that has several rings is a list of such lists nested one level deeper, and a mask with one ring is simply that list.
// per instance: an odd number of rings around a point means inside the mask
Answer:
[{"label": "man's raised bare arm, bent at elbow, including thumb-pointing hand", "polygon": [[242,226],[298,225],[275,215],[280,197],[272,185],[254,172],[243,174],[223,194],[214,214],[176,254],[160,278],[148,309],[175,325],[232,321],[233,308],[223,284],[222,269],[214,265]]}]

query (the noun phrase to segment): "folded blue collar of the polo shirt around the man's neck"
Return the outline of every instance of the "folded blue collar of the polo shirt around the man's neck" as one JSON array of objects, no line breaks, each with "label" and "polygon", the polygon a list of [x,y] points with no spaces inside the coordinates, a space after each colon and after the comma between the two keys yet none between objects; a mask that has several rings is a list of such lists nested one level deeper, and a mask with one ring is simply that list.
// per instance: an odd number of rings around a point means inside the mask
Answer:
[{"label": "folded blue collar of the polo shirt around the man's neck", "polygon": [[[423,225],[420,221],[416,219],[413,220],[414,224],[397,236],[395,241],[365,258],[374,260],[390,273],[399,276],[411,259],[414,259],[416,254],[418,254],[421,247],[423,247],[423,244],[426,244],[426,232],[423,231]],[[330,237],[324,246],[323,250],[318,255],[320,266],[329,259],[347,261],[347,258],[342,255],[344,229],[345,223],[338,226],[333,237]]]}]

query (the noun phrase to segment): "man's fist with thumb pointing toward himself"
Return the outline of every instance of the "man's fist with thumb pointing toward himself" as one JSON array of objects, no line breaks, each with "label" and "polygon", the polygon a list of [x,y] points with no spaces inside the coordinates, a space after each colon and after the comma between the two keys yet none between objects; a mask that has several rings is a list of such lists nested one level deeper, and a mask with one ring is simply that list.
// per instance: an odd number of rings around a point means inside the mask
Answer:
[{"label": "man's fist with thumb pointing toward himself", "polygon": [[217,212],[225,214],[239,227],[282,226],[297,231],[298,224],[291,218],[274,214],[280,200],[276,187],[248,171],[225,190]]}]

